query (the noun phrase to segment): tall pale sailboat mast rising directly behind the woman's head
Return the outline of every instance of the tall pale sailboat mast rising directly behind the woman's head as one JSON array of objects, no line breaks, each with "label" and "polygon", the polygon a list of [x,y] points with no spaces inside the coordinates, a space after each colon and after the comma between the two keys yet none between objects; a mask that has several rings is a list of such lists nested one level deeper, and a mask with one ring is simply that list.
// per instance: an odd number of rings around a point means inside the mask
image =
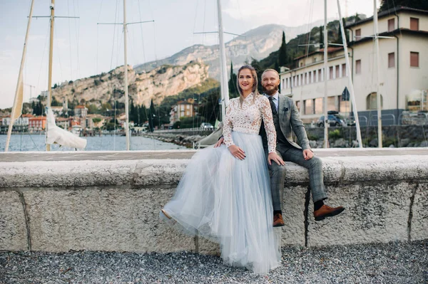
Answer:
[{"label": "tall pale sailboat mast rising directly behind the woman's head", "polygon": [[229,104],[228,70],[226,68],[225,41],[223,39],[223,19],[221,15],[221,1],[217,0],[218,14],[218,43],[220,47],[220,93],[221,93],[221,115],[225,120],[226,107]]}]

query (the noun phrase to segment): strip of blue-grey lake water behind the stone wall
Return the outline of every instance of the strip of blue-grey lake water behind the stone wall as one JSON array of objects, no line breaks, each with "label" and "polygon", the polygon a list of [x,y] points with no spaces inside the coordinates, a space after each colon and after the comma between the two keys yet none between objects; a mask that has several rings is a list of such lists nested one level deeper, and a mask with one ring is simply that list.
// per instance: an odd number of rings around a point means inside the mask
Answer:
[{"label": "strip of blue-grey lake water behind the stone wall", "polygon": [[[0,135],[0,152],[4,152],[7,135]],[[123,151],[126,150],[126,137],[124,136],[94,136],[84,137],[87,140],[86,151]],[[169,150],[186,149],[172,143],[161,142],[151,138],[131,137],[131,150]],[[51,151],[72,151],[68,147],[51,145]],[[9,151],[46,151],[44,135],[11,135]]]}]

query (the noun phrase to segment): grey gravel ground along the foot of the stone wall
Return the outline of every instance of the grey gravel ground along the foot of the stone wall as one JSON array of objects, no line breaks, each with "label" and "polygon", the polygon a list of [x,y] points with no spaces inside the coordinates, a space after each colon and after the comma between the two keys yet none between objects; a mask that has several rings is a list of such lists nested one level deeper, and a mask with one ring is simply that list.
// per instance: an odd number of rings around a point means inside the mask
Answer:
[{"label": "grey gravel ground along the foot of the stone wall", "polygon": [[267,275],[195,253],[0,252],[0,283],[428,283],[428,240],[286,247]]}]

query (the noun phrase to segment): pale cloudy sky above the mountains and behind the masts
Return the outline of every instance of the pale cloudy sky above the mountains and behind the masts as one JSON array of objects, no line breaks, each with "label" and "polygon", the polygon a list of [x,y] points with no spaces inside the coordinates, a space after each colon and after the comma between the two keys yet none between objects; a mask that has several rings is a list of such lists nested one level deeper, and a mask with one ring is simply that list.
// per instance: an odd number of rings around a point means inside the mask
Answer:
[{"label": "pale cloudy sky above the mountains and behind the masts", "polygon": [[[51,0],[36,0],[33,16],[49,16]],[[0,108],[14,102],[31,0],[0,1]],[[342,16],[373,15],[373,0],[340,0]],[[379,0],[377,0],[379,7]],[[322,0],[221,0],[224,31],[245,33],[269,23],[301,26],[324,19]],[[128,64],[172,56],[193,44],[213,45],[218,36],[215,0],[127,0]],[[123,0],[56,0],[52,84],[123,65]],[[327,0],[327,18],[338,19],[337,0]],[[307,31],[302,31],[305,33]],[[225,41],[233,36],[225,35]],[[49,18],[33,18],[24,65],[24,101],[47,90]]]}]

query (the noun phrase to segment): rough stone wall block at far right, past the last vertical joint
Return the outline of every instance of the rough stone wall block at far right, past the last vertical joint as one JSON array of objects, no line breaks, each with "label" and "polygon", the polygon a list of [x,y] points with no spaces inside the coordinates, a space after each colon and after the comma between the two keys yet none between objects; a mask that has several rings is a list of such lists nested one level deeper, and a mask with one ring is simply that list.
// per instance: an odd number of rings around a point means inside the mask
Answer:
[{"label": "rough stone wall block at far right, past the last vertical joint", "polygon": [[428,239],[428,184],[418,184],[414,194],[410,239]]}]

